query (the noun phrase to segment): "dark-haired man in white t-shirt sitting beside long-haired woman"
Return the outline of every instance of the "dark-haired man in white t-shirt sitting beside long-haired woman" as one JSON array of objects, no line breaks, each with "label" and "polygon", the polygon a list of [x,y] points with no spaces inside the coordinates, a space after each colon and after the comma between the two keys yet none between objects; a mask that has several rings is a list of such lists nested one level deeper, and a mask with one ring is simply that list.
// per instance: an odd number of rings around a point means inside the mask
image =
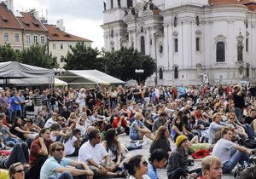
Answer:
[{"label": "dark-haired man in white t-shirt sitting beside long-haired woman", "polygon": [[114,165],[110,165],[110,157],[103,147],[102,136],[99,130],[92,130],[89,133],[89,141],[86,141],[79,149],[79,162],[89,165],[94,176],[127,176],[125,171],[113,173],[116,169]]}]

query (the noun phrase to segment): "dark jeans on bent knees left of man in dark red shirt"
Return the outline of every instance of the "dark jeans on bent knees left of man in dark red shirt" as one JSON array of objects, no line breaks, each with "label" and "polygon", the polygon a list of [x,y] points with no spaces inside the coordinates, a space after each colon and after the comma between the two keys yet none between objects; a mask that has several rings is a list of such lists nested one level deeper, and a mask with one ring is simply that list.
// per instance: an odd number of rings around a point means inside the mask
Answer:
[{"label": "dark jeans on bent knees left of man in dark red shirt", "polygon": [[9,168],[10,165],[17,162],[20,162],[21,164],[28,163],[28,147],[25,142],[17,143],[15,145],[4,165]]}]

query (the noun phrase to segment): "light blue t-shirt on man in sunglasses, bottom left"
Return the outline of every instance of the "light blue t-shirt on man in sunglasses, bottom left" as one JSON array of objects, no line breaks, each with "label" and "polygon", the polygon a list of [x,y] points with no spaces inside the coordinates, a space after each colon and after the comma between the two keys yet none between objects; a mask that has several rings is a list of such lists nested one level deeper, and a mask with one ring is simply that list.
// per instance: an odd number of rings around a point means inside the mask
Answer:
[{"label": "light blue t-shirt on man in sunglasses, bottom left", "polygon": [[66,167],[67,165],[71,165],[71,163],[72,159],[63,158],[61,159],[61,162],[58,163],[54,157],[49,157],[49,159],[44,162],[44,165],[41,168],[40,179],[48,179],[49,176],[55,176],[58,178],[61,173],[56,173],[55,170]]}]

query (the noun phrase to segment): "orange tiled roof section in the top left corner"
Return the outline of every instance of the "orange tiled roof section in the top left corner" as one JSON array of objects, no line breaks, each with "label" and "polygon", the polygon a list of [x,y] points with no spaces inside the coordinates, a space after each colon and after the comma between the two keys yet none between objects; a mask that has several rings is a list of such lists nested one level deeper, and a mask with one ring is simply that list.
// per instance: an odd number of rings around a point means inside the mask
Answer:
[{"label": "orange tiled roof section in the top left corner", "polygon": [[0,28],[22,30],[19,21],[15,18],[12,11],[6,8],[4,3],[0,3]]}]

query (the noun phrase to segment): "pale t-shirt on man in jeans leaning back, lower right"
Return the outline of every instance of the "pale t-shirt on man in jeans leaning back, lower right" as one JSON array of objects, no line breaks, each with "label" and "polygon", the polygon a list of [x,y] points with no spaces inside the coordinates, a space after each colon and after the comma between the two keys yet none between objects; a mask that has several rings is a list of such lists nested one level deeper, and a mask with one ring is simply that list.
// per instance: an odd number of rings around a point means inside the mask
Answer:
[{"label": "pale t-shirt on man in jeans leaning back, lower right", "polygon": [[212,155],[218,157],[221,163],[224,165],[225,162],[230,160],[230,152],[234,143],[226,139],[220,139],[215,144],[212,150]]}]

